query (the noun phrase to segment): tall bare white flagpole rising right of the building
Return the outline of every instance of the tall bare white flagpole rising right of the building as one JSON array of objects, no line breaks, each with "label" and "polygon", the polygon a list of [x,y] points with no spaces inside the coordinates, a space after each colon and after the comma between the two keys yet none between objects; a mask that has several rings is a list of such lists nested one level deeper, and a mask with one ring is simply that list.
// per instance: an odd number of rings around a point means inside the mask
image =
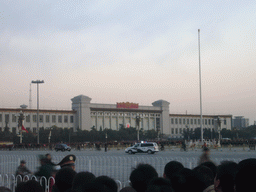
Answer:
[{"label": "tall bare white flagpole rising right of the building", "polygon": [[200,91],[200,129],[201,142],[203,143],[203,115],[202,115],[202,85],[201,85],[201,56],[200,56],[200,29],[198,29],[198,52],[199,52],[199,91]]}]

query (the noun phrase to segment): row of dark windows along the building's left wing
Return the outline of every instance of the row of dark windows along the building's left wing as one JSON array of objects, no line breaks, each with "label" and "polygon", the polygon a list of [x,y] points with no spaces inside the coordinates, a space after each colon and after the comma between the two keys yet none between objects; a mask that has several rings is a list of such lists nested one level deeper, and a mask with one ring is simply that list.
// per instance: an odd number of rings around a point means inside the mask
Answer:
[{"label": "row of dark windows along the building's left wing", "polygon": [[[11,115],[12,117],[12,122],[18,122],[18,118],[19,116],[17,114],[12,114]],[[44,119],[45,118],[45,119]],[[0,114],[0,122],[3,121],[3,118],[2,118],[2,114]],[[37,122],[37,115],[26,115],[25,116],[25,121],[27,123],[30,123],[31,121],[32,122]],[[68,118],[68,115],[39,115],[39,122],[40,123],[43,123],[43,122],[46,122],[46,123],[56,123],[58,121],[58,123],[73,123],[74,122],[74,116],[71,115],[69,116]],[[8,123],[10,122],[10,115],[9,114],[5,114],[5,117],[4,117],[4,122]]]}]

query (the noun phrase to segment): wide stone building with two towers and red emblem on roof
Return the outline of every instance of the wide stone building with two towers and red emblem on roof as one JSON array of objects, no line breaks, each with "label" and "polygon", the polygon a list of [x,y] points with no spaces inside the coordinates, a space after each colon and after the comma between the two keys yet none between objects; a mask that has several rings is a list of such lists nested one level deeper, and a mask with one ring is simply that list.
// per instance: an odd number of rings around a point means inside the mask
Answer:
[{"label": "wide stone building with two towers and red emblem on roof", "polygon": [[[76,131],[100,129],[118,130],[120,127],[136,127],[136,117],[140,117],[139,127],[154,129],[168,137],[180,138],[184,129],[200,127],[199,115],[169,114],[169,102],[158,100],[152,106],[138,103],[120,102],[116,104],[91,103],[91,98],[79,95],[71,99],[72,110],[39,110],[39,127],[57,126]],[[37,110],[0,108],[0,129],[9,127],[18,132],[17,122],[20,112],[25,115],[24,127],[36,133]],[[231,129],[232,115],[204,115],[203,128],[217,129],[216,118],[221,119],[221,128]]]}]

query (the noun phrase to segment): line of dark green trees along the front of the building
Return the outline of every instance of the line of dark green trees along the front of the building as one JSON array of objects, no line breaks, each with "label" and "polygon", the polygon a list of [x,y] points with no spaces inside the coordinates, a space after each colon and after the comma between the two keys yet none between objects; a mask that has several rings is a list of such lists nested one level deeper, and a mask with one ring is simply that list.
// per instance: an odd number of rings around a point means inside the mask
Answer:
[{"label": "line of dark green trees along the front of the building", "polygon": [[[51,132],[51,133],[50,133]],[[249,126],[244,129],[222,129],[222,138],[230,139],[252,139],[256,137],[256,125]],[[139,131],[140,140],[157,140],[157,139],[168,139],[165,135],[158,135],[156,130],[143,130]],[[22,143],[36,143],[37,135],[29,131],[28,133],[22,134]],[[39,131],[40,143],[76,143],[76,142],[110,142],[110,141],[136,141],[137,130],[134,127],[124,128],[121,127],[119,130],[102,129],[97,130],[92,127],[90,131],[78,129],[74,132],[72,129],[59,128],[56,126],[50,129],[40,128]],[[183,138],[186,140],[198,140],[201,138],[201,129],[196,128],[195,130],[184,130]],[[204,139],[218,139],[219,133],[215,130],[204,129]],[[182,139],[182,138],[180,138]],[[0,131],[0,141],[12,141],[14,144],[20,143],[19,134],[12,133],[9,128],[5,128],[4,131]]]}]

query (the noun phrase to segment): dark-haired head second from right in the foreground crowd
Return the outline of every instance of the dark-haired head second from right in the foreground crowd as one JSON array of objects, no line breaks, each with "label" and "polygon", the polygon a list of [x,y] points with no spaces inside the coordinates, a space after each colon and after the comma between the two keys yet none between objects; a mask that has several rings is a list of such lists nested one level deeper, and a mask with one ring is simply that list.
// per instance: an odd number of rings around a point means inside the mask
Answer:
[{"label": "dark-haired head second from right in the foreground crowd", "polygon": [[222,192],[234,191],[237,168],[237,163],[232,161],[226,161],[217,166],[217,174],[214,179],[215,190]]}]

